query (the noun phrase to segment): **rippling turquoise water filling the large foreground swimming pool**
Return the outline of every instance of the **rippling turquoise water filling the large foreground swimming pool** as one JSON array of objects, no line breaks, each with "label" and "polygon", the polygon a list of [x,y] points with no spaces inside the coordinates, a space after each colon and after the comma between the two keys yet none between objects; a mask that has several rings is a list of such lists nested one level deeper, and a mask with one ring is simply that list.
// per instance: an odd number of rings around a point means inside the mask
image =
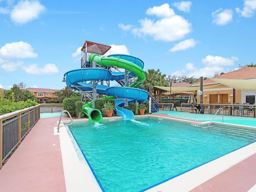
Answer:
[{"label": "rippling turquoise water filling the large foreground swimming pool", "polygon": [[138,192],[256,140],[154,118],[69,126],[106,192]]}]

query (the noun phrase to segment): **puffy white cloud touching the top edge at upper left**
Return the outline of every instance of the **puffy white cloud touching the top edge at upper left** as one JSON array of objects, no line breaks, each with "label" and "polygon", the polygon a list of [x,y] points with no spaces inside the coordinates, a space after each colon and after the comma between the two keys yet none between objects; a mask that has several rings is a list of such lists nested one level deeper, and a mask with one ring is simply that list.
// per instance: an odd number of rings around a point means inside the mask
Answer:
[{"label": "puffy white cloud touching the top edge at upper left", "polygon": [[20,1],[11,12],[11,19],[17,24],[26,24],[46,10],[38,1]]}]

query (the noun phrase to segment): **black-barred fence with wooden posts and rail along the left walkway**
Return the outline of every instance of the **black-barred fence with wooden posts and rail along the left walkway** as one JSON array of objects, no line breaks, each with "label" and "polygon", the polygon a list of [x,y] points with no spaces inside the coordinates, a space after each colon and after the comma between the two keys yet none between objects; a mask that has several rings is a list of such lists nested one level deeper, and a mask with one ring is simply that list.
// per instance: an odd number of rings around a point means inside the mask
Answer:
[{"label": "black-barred fence with wooden posts and rail along the left walkway", "polygon": [[0,168],[40,119],[40,105],[0,115]]}]

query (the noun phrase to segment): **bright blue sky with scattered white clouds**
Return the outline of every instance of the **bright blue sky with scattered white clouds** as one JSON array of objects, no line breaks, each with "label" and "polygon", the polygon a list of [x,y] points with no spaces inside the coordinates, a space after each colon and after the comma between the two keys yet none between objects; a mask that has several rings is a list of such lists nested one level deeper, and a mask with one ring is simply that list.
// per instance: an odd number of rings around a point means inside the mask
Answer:
[{"label": "bright blue sky with scattered white clouds", "polygon": [[0,88],[63,89],[86,40],[144,71],[212,78],[256,64],[255,14],[256,0],[0,0]]}]

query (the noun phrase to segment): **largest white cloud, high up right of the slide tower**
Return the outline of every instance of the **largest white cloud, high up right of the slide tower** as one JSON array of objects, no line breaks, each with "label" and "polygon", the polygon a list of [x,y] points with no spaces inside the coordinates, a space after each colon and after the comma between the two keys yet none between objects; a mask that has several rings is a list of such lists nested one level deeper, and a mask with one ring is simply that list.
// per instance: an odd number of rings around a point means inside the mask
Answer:
[{"label": "largest white cloud, high up right of the slide tower", "polygon": [[[152,36],[154,40],[161,41],[176,41],[184,38],[191,32],[191,24],[182,16],[174,13],[174,10],[168,4],[161,6],[154,6],[148,8],[146,11],[148,15],[155,15],[160,17],[158,20],[151,20],[148,18],[141,19],[139,28],[132,28],[132,26],[120,24],[123,30],[131,30],[136,36]],[[129,26],[129,27],[128,27]]]}]

